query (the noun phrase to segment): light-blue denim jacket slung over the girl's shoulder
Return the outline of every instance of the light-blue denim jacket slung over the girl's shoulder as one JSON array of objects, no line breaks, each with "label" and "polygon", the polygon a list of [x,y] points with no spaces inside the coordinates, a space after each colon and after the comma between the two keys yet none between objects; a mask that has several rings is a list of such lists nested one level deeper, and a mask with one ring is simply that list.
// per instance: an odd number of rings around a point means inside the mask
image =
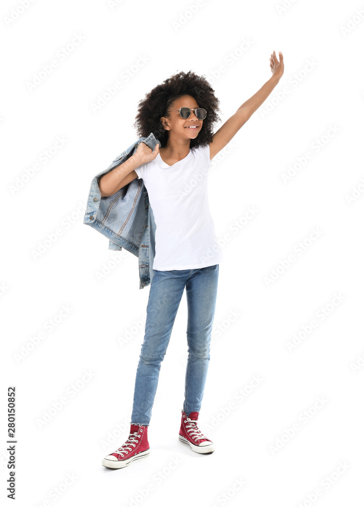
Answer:
[{"label": "light-blue denim jacket slung over the girl's shoulder", "polygon": [[153,151],[160,141],[151,132],[141,137],[120,154],[107,169],[97,174],[91,183],[84,224],[101,232],[109,240],[109,250],[126,250],[139,259],[139,288],[149,285],[153,278],[155,256],[155,222],[143,179],[135,178],[113,195],[101,197],[100,176],[111,171],[134,155],[139,143]]}]

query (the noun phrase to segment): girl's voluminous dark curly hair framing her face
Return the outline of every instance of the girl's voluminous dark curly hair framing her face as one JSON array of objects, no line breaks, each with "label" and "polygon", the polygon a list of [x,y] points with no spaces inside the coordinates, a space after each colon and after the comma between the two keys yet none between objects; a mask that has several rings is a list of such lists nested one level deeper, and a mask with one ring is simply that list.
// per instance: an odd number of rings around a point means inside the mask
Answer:
[{"label": "girl's voluminous dark curly hair framing her face", "polygon": [[[167,78],[163,84],[155,86],[139,101],[138,114],[133,127],[137,129],[139,137],[147,137],[151,132],[160,140],[163,148],[168,141],[168,130],[163,127],[160,118],[170,117],[167,111],[177,98],[183,95],[191,95],[197,101],[199,107],[207,111],[203,126],[195,139],[190,139],[190,148],[204,146],[212,142],[213,127],[221,118],[220,100],[214,95],[215,90],[204,76],[197,76],[192,70],[186,73],[183,70]],[[221,112],[221,111],[220,111]]]}]

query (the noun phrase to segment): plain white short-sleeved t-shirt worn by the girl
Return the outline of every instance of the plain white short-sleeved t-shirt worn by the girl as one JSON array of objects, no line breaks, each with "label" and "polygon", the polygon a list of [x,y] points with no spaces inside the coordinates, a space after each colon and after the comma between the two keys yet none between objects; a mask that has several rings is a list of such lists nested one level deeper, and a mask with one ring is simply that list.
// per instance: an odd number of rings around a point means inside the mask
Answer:
[{"label": "plain white short-sleeved t-shirt worn by the girl", "polygon": [[135,169],[148,191],[155,221],[153,269],[203,268],[224,260],[210,214],[210,146],[190,149],[169,166],[160,157]]}]

